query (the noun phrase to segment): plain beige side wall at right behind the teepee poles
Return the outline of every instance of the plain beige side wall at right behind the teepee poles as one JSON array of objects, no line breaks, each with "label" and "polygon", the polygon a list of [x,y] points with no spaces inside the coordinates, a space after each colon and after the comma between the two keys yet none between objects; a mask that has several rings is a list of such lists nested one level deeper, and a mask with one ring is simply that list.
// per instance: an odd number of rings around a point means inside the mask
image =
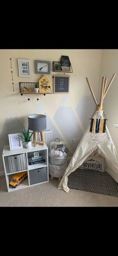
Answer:
[{"label": "plain beige side wall at right behind the teepee poles", "polygon": [[115,144],[116,150],[118,151],[118,129],[113,125],[113,123],[118,123],[118,50],[117,49],[107,49],[103,50],[102,64],[101,64],[101,77],[108,77],[108,81],[112,77],[113,73],[116,76],[104,98],[103,109],[105,115],[108,119],[107,127],[109,129],[112,140]]}]

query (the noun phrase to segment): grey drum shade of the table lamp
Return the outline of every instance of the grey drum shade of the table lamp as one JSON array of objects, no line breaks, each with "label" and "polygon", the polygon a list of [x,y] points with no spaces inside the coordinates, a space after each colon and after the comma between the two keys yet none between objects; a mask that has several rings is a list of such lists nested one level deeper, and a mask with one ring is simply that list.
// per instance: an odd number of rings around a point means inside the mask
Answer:
[{"label": "grey drum shade of the table lamp", "polygon": [[33,131],[41,131],[46,129],[46,115],[31,114],[28,115],[28,128]]}]

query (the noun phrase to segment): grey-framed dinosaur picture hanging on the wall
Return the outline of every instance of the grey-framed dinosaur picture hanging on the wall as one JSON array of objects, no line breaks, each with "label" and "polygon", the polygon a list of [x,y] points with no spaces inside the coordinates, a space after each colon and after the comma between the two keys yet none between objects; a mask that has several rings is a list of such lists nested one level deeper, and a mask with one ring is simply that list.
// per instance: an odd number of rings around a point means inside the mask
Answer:
[{"label": "grey-framed dinosaur picture hanging on the wall", "polygon": [[35,60],[36,74],[50,74],[50,61]]}]

